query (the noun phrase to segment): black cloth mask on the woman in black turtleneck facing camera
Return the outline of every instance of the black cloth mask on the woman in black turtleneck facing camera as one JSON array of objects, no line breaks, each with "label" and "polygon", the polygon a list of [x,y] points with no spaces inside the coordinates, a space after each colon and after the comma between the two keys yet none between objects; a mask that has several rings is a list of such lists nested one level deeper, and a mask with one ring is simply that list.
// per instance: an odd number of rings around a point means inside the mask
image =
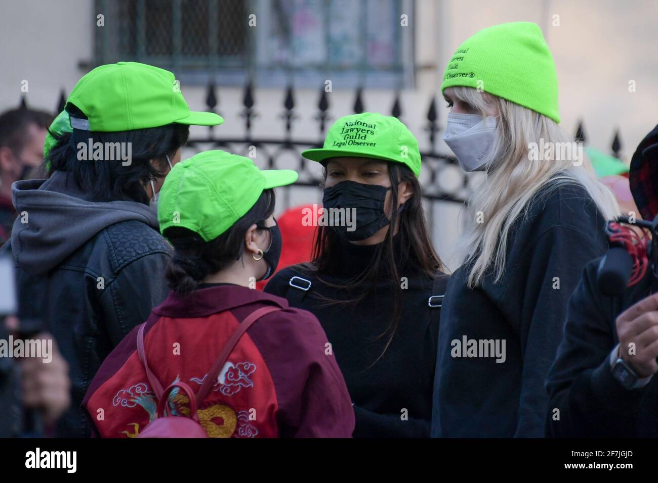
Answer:
[{"label": "black cloth mask on the woman in black turtleneck facing camera", "polygon": [[[340,218],[327,214],[328,219],[342,221],[338,226],[332,226],[332,229],[348,241],[361,241],[372,237],[391,222],[384,212],[386,193],[390,189],[391,187],[366,185],[356,181],[341,181],[326,188],[322,195],[322,207],[325,210],[345,210]],[[354,210],[351,211],[351,218],[347,218],[347,210]],[[351,226],[347,225],[346,219],[351,219]]]}]

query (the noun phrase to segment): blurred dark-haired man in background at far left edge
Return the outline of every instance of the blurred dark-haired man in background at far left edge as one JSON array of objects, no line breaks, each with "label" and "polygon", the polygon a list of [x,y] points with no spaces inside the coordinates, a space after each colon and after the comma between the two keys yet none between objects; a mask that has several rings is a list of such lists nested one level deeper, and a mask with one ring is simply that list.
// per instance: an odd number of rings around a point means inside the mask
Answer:
[{"label": "blurred dark-haired man in background at far left edge", "polygon": [[43,141],[53,116],[25,107],[0,114],[0,246],[16,219],[11,199],[14,181],[37,177],[43,162]]}]

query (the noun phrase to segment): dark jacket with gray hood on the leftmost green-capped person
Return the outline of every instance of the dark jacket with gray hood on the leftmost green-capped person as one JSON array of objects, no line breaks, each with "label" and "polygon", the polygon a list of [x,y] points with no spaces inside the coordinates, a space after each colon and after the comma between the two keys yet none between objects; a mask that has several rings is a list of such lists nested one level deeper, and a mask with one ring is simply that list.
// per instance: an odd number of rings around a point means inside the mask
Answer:
[{"label": "dark jacket with gray hood on the leftmost green-capped person", "polygon": [[53,177],[14,183],[14,203],[29,221],[19,216],[2,250],[16,260],[21,325],[52,333],[70,367],[72,404],[55,435],[84,437],[90,428],[80,403],[89,382],[166,298],[170,246],[148,206],[84,200],[64,173]]}]

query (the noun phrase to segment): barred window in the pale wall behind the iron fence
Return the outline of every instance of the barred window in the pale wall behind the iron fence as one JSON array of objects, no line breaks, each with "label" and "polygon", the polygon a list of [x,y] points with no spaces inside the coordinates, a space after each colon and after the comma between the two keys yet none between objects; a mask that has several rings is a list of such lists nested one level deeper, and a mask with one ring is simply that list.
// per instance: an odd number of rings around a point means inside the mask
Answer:
[{"label": "barred window in the pale wall behind the iron fence", "polygon": [[[182,81],[407,87],[412,0],[96,0],[95,64],[136,60]],[[403,9],[405,12],[403,12]],[[94,18],[96,24],[97,19]]]}]

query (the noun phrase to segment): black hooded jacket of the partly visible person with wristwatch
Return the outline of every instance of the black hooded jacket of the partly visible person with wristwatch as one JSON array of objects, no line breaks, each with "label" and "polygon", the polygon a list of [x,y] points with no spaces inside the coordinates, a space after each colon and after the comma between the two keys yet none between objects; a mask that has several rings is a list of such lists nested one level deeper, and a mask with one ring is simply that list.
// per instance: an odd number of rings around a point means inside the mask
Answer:
[{"label": "black hooded jacket of the partly visible person with wristwatch", "polygon": [[[644,219],[658,215],[658,126],[633,154],[630,189]],[[620,297],[601,293],[599,260],[587,265],[569,301],[569,313],[555,364],[547,380],[550,436],[658,437],[658,375],[642,388],[626,390],[613,378],[609,357],[619,343],[617,316],[642,300],[657,281],[644,278]]]}]

